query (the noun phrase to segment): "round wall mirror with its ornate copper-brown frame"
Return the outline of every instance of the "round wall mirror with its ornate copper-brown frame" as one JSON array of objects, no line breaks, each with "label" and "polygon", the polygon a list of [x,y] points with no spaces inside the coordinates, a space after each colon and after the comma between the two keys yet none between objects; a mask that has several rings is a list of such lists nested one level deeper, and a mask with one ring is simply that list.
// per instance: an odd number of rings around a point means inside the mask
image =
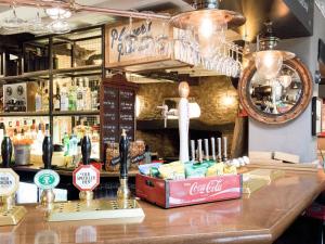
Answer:
[{"label": "round wall mirror with its ornate copper-brown frame", "polygon": [[283,124],[297,118],[312,98],[312,77],[297,57],[284,61],[275,79],[261,78],[253,62],[243,72],[238,93],[248,115],[261,123]]}]

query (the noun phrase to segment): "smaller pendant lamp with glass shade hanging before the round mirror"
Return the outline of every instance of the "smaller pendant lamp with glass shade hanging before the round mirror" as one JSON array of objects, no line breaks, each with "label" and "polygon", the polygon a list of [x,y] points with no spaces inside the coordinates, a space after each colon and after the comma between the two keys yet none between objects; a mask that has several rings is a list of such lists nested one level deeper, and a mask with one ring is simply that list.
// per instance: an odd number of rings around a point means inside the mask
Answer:
[{"label": "smaller pendant lamp with glass shade hanging before the round mirror", "polygon": [[264,25],[266,29],[257,37],[257,52],[252,55],[259,76],[274,79],[282,69],[283,62],[295,57],[295,53],[276,50],[280,39],[273,34],[272,22],[266,22]]}]

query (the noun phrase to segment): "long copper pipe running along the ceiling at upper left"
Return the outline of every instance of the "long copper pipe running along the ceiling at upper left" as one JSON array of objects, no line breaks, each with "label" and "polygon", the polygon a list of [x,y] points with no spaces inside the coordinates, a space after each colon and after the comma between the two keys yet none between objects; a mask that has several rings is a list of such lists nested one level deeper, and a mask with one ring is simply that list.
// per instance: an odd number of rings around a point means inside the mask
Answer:
[{"label": "long copper pipe running along the ceiling at upper left", "polygon": [[[12,0],[0,0],[1,5],[10,5],[12,4]],[[15,0],[16,5],[23,7],[32,7],[32,8],[61,8],[65,10],[70,10],[75,12],[93,12],[93,13],[106,13],[114,16],[132,16],[134,18],[155,18],[155,20],[170,20],[170,16],[164,14],[156,14],[156,13],[142,13],[142,12],[134,12],[128,10],[115,10],[108,8],[99,8],[99,7],[91,7],[91,5],[81,5],[78,3],[67,3],[62,1],[55,0],[41,0],[41,1],[31,1],[31,0]]]}]

